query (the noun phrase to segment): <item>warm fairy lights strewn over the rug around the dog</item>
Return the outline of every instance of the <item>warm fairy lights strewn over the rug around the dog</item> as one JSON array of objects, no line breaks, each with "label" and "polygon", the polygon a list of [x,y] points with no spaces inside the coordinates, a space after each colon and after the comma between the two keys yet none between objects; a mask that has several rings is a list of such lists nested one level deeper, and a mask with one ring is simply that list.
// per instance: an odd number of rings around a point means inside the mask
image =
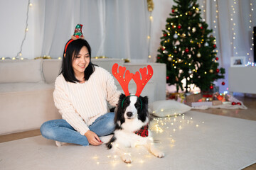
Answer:
[{"label": "warm fairy lights strewn over the rug around the dog", "polygon": [[[157,113],[165,112],[164,109],[161,111],[155,111]],[[202,128],[207,126],[205,120],[198,120],[186,114],[166,115],[166,117],[154,117],[149,125],[149,129],[154,134],[154,139],[150,137],[151,142],[156,143],[156,147],[159,145],[164,145],[167,152],[169,149],[176,147],[176,142],[179,141],[178,135],[184,132],[184,130],[193,129],[195,131],[200,131]],[[156,137],[158,140],[156,139]],[[118,145],[116,145],[118,147]],[[160,149],[160,148],[159,148]],[[119,164],[124,164],[120,159],[119,155],[112,154],[93,154],[91,159],[92,163],[96,165],[110,165],[118,166]],[[145,162],[150,162],[152,159],[156,159],[145,147],[134,147],[132,149],[127,149],[124,154],[132,156],[132,164],[125,164],[124,166],[131,167],[145,164]]]}]

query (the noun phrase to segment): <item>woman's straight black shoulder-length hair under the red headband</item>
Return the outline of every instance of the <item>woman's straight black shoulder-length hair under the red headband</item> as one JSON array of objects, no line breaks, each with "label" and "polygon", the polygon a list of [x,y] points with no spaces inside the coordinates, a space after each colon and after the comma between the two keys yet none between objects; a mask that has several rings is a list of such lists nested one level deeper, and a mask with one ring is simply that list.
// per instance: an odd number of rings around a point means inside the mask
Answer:
[{"label": "woman's straight black shoulder-length hair under the red headband", "polygon": [[[70,40],[68,40],[68,42]],[[66,47],[67,43],[65,44],[65,47]],[[90,48],[90,45],[87,42],[87,40],[84,40],[84,39],[73,40],[72,42],[69,43],[66,52],[65,52],[65,48],[64,48],[64,52],[63,52],[63,62],[62,62],[62,66],[60,69],[60,74],[63,74],[65,81],[69,81],[71,83],[80,82],[78,79],[75,78],[72,63],[75,58],[73,56],[78,55],[80,50],[84,46],[87,47],[87,50],[88,50],[89,56],[90,56],[90,63],[88,64],[88,66],[85,69],[85,77],[84,77],[85,81],[88,80],[90,78],[90,76],[92,75],[92,73],[95,71],[95,64],[92,64],[92,62],[91,62],[91,48]],[[64,55],[65,55],[65,57],[64,57]]]}]

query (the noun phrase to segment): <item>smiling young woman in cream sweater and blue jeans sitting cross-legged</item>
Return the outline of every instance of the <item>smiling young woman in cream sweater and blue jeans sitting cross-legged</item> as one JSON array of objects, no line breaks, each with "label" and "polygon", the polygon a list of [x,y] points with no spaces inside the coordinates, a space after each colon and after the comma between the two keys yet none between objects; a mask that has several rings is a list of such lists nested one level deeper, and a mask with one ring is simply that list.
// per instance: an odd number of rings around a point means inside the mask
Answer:
[{"label": "smiling young woman in cream sweater and blue jeans sitting cross-legged", "polygon": [[50,140],[78,145],[101,145],[101,136],[114,131],[114,113],[120,92],[112,75],[91,62],[86,40],[69,40],[65,45],[60,75],[53,98],[63,119],[41,125],[41,134]]}]

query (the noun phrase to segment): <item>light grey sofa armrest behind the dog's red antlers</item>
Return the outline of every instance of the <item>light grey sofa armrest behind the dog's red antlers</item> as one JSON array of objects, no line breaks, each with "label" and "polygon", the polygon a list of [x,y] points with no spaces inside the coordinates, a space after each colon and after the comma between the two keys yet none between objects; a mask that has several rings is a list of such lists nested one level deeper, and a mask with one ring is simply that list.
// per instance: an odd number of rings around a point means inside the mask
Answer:
[{"label": "light grey sofa armrest behind the dog's red antlers", "polygon": [[149,81],[153,81],[156,84],[156,89],[154,90],[154,100],[160,101],[166,99],[166,64],[149,62],[145,64],[134,64],[134,63],[124,63],[124,67],[129,69],[130,72],[135,74],[140,68],[144,68],[147,65],[151,65],[154,74]]}]

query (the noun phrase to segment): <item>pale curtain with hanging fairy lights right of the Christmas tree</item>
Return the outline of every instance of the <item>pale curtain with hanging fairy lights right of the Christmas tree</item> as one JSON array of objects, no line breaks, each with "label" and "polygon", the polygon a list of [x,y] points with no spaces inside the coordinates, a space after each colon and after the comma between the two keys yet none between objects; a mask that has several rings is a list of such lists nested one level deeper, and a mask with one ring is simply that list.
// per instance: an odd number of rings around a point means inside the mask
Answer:
[{"label": "pale curtain with hanging fairy lights right of the Christmas tree", "polygon": [[[230,57],[245,56],[253,62],[253,26],[256,26],[255,0],[198,1],[203,18],[213,29],[216,38],[220,67],[225,68],[225,79],[220,79],[220,91],[228,91],[228,68]],[[206,11],[203,11],[206,10]],[[217,12],[216,12],[217,11]],[[255,61],[256,62],[256,61]],[[246,76],[246,75],[245,75]],[[239,77],[238,77],[239,79]],[[221,85],[222,81],[225,85]]]}]

